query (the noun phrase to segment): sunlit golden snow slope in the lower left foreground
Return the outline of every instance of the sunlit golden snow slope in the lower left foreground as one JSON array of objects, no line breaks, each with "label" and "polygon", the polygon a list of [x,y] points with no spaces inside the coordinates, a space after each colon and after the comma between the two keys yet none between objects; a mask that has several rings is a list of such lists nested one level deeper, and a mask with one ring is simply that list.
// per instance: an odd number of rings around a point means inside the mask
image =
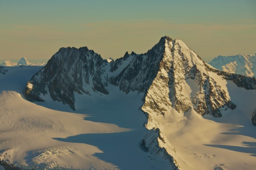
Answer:
[{"label": "sunlit golden snow slope in the lower left foreground", "polygon": [[96,168],[99,169],[116,167],[94,157],[93,154],[102,152],[96,147],[59,142],[54,138],[129,129],[86,121],[83,114],[50,110],[27,102],[14,91],[3,91],[0,103],[1,159],[30,169],[79,169],[90,167],[94,162],[98,162]]}]

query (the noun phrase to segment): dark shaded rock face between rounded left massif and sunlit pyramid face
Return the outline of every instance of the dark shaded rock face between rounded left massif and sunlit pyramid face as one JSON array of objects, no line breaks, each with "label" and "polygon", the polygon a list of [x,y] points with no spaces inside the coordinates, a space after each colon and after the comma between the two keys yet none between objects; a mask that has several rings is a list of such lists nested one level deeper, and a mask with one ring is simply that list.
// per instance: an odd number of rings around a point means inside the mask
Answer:
[{"label": "dark shaded rock face between rounded left massif and sunlit pyramid face", "polygon": [[[125,56],[111,63],[110,83],[119,86],[119,89],[128,94],[130,91],[139,93],[147,91],[159,70],[159,62],[163,58],[165,38],[162,38],[151,50],[145,54]],[[123,68],[118,70],[118,68]]]}]

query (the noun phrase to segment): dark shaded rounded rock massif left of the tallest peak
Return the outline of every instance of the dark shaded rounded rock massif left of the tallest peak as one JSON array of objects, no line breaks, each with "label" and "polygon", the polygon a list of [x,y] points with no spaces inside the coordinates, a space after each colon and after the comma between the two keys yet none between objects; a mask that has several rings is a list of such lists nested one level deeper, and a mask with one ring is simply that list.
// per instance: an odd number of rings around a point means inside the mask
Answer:
[{"label": "dark shaded rounded rock massif left of the tallest peak", "polygon": [[31,101],[42,102],[40,94],[49,93],[51,98],[70,105],[75,110],[74,92],[89,94],[90,90],[108,94],[105,86],[108,82],[102,79],[104,66],[107,64],[100,55],[83,48],[61,48],[47,62],[47,65],[36,73],[24,94]]}]

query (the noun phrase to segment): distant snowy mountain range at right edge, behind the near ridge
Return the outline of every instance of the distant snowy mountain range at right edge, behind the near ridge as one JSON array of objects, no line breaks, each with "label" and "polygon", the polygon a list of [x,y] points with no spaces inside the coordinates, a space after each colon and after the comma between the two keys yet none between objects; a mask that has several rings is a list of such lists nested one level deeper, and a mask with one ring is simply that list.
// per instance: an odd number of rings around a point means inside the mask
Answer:
[{"label": "distant snowy mountain range at right edge, behind the near ridge", "polygon": [[256,77],[256,54],[218,56],[212,59],[209,64],[218,70]]}]

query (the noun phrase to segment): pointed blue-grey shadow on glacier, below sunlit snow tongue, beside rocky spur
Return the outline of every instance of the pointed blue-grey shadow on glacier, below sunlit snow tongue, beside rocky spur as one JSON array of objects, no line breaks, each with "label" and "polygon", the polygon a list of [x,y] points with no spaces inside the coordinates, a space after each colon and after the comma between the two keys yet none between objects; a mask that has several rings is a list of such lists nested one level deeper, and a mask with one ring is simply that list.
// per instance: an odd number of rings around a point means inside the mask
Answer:
[{"label": "pointed blue-grey shadow on glacier, below sunlit snow tongue, beside rocky spur", "polygon": [[[153,162],[149,154],[140,149],[140,140],[146,130],[132,130],[121,133],[92,133],[70,136],[67,138],[54,138],[62,142],[84,143],[98,147],[103,153],[95,153],[99,159],[115,164],[122,170],[150,169],[148,162]],[[161,162],[159,162],[161,164]],[[166,162],[163,160],[160,169],[165,170]]]}]

